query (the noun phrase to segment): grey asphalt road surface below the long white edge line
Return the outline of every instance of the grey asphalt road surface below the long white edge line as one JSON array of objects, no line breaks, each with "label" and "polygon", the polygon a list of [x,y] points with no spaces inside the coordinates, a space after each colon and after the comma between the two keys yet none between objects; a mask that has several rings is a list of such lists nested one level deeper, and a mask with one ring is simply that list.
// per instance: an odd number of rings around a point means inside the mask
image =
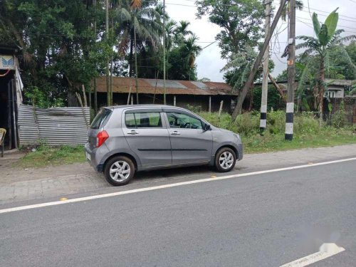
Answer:
[{"label": "grey asphalt road surface below the long white edge line", "polygon": [[0,266],[355,266],[356,161],[0,214]]}]

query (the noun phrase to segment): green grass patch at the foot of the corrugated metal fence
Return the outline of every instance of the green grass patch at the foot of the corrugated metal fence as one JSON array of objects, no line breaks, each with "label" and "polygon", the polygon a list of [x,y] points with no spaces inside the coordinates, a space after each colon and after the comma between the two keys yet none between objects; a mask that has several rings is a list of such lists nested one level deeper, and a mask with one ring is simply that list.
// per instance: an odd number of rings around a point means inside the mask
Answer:
[{"label": "green grass patch at the foot of the corrugated metal fence", "polygon": [[41,168],[78,162],[85,162],[83,146],[49,147],[47,145],[41,145],[36,148],[36,151],[28,152],[19,162],[16,162],[16,166],[23,168]]}]

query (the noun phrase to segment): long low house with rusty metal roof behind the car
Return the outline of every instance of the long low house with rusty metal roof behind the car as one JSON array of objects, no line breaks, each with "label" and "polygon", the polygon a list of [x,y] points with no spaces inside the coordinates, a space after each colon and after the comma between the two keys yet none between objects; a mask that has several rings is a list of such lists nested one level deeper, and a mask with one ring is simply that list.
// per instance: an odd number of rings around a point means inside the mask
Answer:
[{"label": "long low house with rusty metal roof behind the car", "polygon": [[[106,78],[100,77],[96,83],[98,105],[106,105]],[[223,110],[231,112],[231,107],[236,105],[237,98],[237,93],[232,92],[230,85],[217,82],[166,80],[166,92],[167,105],[183,108],[192,105],[203,111],[208,111],[209,106],[211,111],[218,111],[221,101],[224,101]],[[138,94],[140,104],[162,104],[163,80],[139,78]],[[136,104],[135,78],[113,77],[112,95],[114,105]]]}]

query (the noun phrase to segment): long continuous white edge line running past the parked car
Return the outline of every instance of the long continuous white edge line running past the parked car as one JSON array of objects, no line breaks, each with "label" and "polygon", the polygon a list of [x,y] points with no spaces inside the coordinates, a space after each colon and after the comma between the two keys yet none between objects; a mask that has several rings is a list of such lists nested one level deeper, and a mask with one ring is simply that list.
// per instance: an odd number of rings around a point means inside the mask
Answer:
[{"label": "long continuous white edge line running past the parked car", "polygon": [[287,171],[290,169],[302,169],[302,168],[308,168],[308,167],[320,166],[320,165],[326,165],[326,164],[333,164],[333,163],[339,163],[339,162],[349,162],[351,160],[356,160],[356,157],[352,157],[352,158],[348,158],[348,159],[338,159],[338,160],[333,160],[330,162],[305,164],[305,165],[299,165],[299,166],[294,166],[294,167],[285,167],[285,168],[279,168],[279,169],[267,169],[267,170],[259,171],[259,172],[231,174],[231,175],[226,175],[226,176],[221,176],[221,177],[216,177],[216,178],[215,177],[214,178],[206,178],[206,179],[199,179],[199,180],[193,180],[193,181],[187,181],[187,182],[179,182],[179,183],[174,183],[174,184],[163,184],[163,185],[159,185],[157,187],[145,187],[145,188],[140,188],[140,189],[132,189],[132,190],[126,190],[126,191],[114,192],[114,193],[108,193],[108,194],[97,194],[97,195],[89,196],[89,197],[78,197],[77,199],[68,199],[66,201],[53,201],[53,202],[27,205],[27,206],[16,206],[14,208],[9,208],[9,209],[0,209],[0,214],[12,212],[12,211],[22,211],[25,209],[42,208],[44,206],[56,206],[56,205],[62,205],[62,204],[69,204],[69,203],[74,203],[74,202],[87,201],[87,200],[91,200],[91,199],[103,199],[105,197],[120,196],[122,194],[132,194],[132,193],[137,193],[137,192],[146,192],[146,191],[164,189],[164,188],[169,188],[169,187],[179,187],[181,185],[186,185],[186,184],[198,184],[198,183],[202,183],[202,182],[210,182],[210,181],[216,181],[216,180],[245,177],[245,176],[257,175],[257,174],[266,174],[266,173],[270,173],[270,172],[282,172],[282,171]]}]

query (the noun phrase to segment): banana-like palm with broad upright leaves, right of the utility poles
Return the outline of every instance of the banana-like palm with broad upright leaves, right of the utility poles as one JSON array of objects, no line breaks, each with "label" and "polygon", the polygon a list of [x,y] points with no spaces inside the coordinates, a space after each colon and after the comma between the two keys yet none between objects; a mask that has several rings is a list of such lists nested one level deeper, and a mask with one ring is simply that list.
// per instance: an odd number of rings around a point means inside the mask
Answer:
[{"label": "banana-like palm with broad upright leaves, right of the utility poles", "polygon": [[[343,53],[342,56],[348,57],[347,51],[342,46],[342,43],[349,41],[356,36],[346,36],[341,37],[340,34],[343,30],[336,30],[338,14],[337,9],[331,12],[326,18],[325,22],[320,25],[318,20],[318,15],[313,14],[313,26],[315,31],[315,36],[298,36],[298,39],[303,40],[303,43],[299,43],[295,46],[296,49],[304,48],[302,56],[318,56],[319,60],[319,70],[316,77],[315,85],[315,99],[317,100],[317,105],[320,112],[320,125],[323,122],[323,99],[325,93],[325,64],[328,64],[328,58],[330,51],[338,46]],[[341,55],[340,55],[341,56]],[[349,57],[350,58],[350,57]],[[352,62],[351,60],[349,62]],[[355,67],[355,66],[354,66]],[[308,70],[305,68],[305,71]],[[303,75],[303,74],[302,74]]]}]

